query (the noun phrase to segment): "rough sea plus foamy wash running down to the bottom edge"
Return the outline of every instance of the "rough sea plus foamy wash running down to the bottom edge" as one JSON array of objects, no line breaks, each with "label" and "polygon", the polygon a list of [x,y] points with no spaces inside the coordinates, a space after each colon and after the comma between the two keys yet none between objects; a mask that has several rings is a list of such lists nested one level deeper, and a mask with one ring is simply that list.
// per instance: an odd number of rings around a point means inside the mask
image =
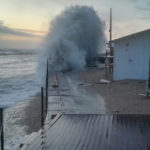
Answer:
[{"label": "rough sea plus foamy wash running down to the bottom edge", "polygon": [[37,50],[0,49],[0,107],[4,108],[6,150],[17,149],[29,133],[26,112],[35,112],[30,110],[30,101],[40,92],[37,62]]}]

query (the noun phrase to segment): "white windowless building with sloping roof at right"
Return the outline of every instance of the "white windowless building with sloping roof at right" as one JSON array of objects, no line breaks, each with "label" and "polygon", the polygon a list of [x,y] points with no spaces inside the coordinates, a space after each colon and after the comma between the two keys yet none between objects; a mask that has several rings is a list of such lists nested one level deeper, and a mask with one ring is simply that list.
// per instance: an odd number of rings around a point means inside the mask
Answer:
[{"label": "white windowless building with sloping roof at right", "polygon": [[114,43],[114,80],[147,80],[150,61],[150,29],[128,35]]}]

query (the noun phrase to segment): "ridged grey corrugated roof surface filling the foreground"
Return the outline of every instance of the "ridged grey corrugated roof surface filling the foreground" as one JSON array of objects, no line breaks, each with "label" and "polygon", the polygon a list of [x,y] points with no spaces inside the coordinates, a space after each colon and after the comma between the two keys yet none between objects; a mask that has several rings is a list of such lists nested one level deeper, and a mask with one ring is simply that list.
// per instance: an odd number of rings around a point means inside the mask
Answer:
[{"label": "ridged grey corrugated roof surface filling the foreground", "polygon": [[[44,132],[50,150],[148,150],[150,115],[62,115]],[[40,141],[26,150],[41,150]]]}]

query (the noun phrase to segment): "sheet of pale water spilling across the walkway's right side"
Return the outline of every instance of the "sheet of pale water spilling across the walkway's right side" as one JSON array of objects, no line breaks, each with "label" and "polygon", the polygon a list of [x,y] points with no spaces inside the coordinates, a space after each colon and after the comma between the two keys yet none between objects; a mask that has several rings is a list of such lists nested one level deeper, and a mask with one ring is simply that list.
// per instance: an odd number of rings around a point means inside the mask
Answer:
[{"label": "sheet of pale water spilling across the walkway's right side", "polygon": [[67,81],[73,95],[75,107],[81,114],[105,114],[104,99],[95,91],[87,88],[91,86],[77,79],[77,76],[67,75]]}]

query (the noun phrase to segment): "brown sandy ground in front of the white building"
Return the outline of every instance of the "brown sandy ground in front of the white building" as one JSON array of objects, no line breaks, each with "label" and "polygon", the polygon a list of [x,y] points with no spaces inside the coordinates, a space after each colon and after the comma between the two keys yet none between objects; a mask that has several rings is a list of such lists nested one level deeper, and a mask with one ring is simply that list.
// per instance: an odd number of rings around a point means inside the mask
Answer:
[{"label": "brown sandy ground in front of the white building", "polygon": [[[146,94],[145,81],[112,81],[112,75],[106,75],[104,69],[89,68],[80,73],[80,79],[89,88],[98,92],[106,103],[108,114],[150,114],[150,98]],[[99,84],[101,79],[110,80],[110,84]]]}]

